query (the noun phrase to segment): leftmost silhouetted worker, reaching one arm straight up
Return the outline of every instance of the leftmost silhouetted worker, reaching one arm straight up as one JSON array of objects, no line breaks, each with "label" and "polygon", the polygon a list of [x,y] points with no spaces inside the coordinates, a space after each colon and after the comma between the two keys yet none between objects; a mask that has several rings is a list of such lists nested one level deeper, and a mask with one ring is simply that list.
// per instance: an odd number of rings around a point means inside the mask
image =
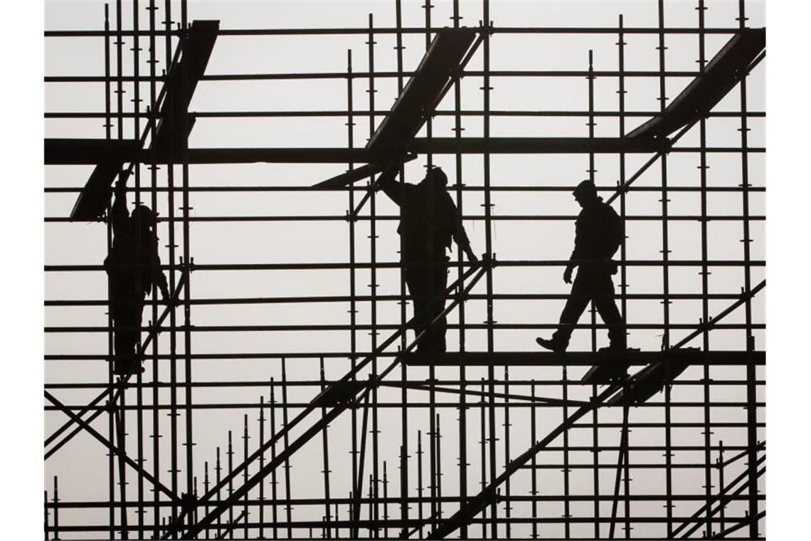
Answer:
[{"label": "leftmost silhouetted worker, reaching one arm straight up", "polygon": [[131,215],[127,213],[124,179],[116,182],[110,219],[113,222],[113,247],[104,265],[109,278],[110,315],[114,324],[113,372],[126,376],[138,372],[142,360],[136,356],[135,346],[140,338],[145,296],[152,291],[152,286],[157,286],[167,303],[170,297],[157,253],[157,217],[144,205],[135,207]]}]

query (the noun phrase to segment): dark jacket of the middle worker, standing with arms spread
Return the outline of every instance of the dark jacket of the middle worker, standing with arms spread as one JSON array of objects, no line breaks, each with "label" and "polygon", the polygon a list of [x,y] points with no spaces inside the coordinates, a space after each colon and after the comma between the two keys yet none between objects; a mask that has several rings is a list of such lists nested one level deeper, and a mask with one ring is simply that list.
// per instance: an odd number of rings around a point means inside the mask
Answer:
[{"label": "dark jacket of the middle worker, standing with arms spread", "polygon": [[381,187],[400,206],[400,257],[407,261],[445,261],[445,249],[453,239],[461,247],[470,244],[461,214],[447,191],[398,182]]}]

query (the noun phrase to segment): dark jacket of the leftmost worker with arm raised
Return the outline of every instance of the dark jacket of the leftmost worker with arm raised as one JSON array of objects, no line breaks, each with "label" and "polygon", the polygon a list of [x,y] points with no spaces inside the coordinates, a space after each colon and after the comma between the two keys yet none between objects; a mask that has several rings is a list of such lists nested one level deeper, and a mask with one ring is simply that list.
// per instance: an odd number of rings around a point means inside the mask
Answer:
[{"label": "dark jacket of the leftmost worker with arm raised", "polygon": [[166,290],[161,271],[157,236],[140,227],[127,213],[126,195],[116,195],[110,218],[113,221],[113,247],[104,260],[116,296],[143,298],[152,286]]}]

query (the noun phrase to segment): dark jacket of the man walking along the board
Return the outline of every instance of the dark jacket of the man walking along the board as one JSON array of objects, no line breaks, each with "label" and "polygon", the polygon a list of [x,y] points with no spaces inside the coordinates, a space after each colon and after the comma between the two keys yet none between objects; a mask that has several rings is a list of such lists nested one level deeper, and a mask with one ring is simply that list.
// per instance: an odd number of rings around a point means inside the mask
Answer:
[{"label": "dark jacket of the man walking along the board", "polygon": [[[622,219],[611,208],[610,204],[603,203],[598,197],[593,204],[583,208],[577,216],[575,223],[574,250],[572,260],[611,260],[622,244],[624,227]],[[599,266],[581,263],[583,266],[606,268],[611,273],[616,272],[616,266]]]}]

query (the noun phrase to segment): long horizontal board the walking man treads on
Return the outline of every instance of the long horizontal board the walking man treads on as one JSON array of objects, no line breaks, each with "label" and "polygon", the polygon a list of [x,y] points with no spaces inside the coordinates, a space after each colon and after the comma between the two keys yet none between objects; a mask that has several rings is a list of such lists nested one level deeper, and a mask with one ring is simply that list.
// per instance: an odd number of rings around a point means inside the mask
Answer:
[{"label": "long horizontal board the walking man treads on", "polygon": [[737,366],[749,363],[766,363],[765,351],[464,351],[447,353],[406,353],[401,354],[403,362],[414,367],[488,367],[488,366],[591,366],[608,363],[647,365],[659,361],[672,363],[710,364]]}]

